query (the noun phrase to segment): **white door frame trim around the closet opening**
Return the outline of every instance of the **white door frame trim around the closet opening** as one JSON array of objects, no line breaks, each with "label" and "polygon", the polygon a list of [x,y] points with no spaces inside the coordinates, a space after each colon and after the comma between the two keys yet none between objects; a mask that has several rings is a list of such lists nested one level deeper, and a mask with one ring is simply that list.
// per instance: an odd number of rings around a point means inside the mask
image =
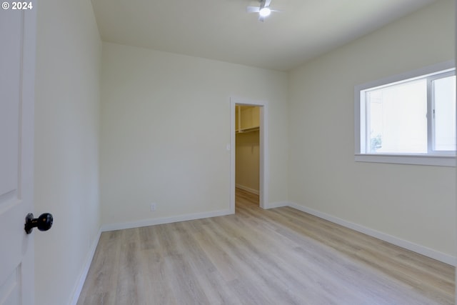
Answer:
[{"label": "white door frame trim around the closet opening", "polygon": [[230,213],[235,214],[235,116],[236,105],[260,107],[259,118],[259,164],[258,164],[258,199],[259,206],[268,206],[268,103],[244,99],[236,96],[230,98]]}]

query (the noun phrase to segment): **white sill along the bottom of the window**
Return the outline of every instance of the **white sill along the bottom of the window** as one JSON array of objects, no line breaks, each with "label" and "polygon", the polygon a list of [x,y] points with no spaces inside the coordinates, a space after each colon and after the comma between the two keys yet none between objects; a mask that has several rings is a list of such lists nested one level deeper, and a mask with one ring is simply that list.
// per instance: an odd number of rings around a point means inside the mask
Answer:
[{"label": "white sill along the bottom of the window", "polygon": [[454,155],[356,154],[354,159],[356,162],[456,166],[456,156]]}]

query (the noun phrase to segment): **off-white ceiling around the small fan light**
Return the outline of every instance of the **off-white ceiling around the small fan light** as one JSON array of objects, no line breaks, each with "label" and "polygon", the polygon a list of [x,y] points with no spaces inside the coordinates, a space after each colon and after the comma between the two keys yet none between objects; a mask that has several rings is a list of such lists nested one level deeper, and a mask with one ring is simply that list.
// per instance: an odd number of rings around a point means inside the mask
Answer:
[{"label": "off-white ceiling around the small fan light", "polygon": [[438,0],[92,0],[103,41],[288,71]]}]

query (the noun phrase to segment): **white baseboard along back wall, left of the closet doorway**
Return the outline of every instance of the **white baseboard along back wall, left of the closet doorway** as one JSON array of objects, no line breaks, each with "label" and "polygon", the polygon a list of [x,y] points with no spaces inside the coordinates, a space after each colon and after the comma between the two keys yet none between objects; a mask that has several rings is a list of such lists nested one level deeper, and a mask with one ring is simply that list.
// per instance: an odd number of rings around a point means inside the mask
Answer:
[{"label": "white baseboard along back wall, left of the closet doorway", "polygon": [[196,213],[196,214],[186,214],[186,215],[179,215],[179,216],[171,216],[171,217],[164,217],[164,218],[156,218],[156,219],[144,219],[140,221],[131,221],[131,222],[124,222],[119,224],[105,224],[101,226],[101,231],[116,231],[116,230],[123,230],[123,229],[133,229],[139,228],[141,226],[154,226],[156,224],[171,224],[173,222],[179,221],[188,221],[194,219],[203,219],[203,218],[210,218],[210,217],[217,217],[217,216],[224,216],[233,214],[229,209],[221,210],[221,211],[211,211],[206,213]]}]

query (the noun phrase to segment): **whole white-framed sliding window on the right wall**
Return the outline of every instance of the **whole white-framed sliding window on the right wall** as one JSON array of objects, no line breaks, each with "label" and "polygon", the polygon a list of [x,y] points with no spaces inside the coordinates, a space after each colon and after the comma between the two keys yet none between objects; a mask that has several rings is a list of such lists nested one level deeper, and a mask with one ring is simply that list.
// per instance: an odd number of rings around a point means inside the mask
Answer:
[{"label": "whole white-framed sliding window on the right wall", "polygon": [[356,161],[455,166],[453,62],[356,86]]}]

